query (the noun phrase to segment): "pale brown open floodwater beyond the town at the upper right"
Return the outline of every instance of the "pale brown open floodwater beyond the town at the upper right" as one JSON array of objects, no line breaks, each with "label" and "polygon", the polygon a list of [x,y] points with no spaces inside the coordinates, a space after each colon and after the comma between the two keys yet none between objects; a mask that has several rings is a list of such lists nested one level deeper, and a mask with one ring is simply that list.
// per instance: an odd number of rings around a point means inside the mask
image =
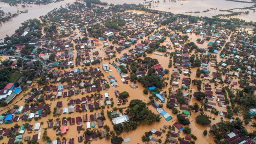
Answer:
[{"label": "pale brown open floodwater beyond the town at the upper right", "polygon": [[[144,0],[102,0],[103,2],[107,2],[108,4],[143,4],[145,3]],[[148,2],[150,0],[147,0]],[[250,1],[250,0],[246,0]],[[155,3],[156,2],[156,3]],[[146,3],[149,4],[149,3]],[[232,8],[243,8],[252,6],[251,3],[238,3],[238,2],[232,2],[232,1],[225,1],[225,0],[176,0],[176,2],[171,0],[166,0],[165,2],[163,0],[160,0],[159,3],[157,3],[156,0],[151,3],[151,9],[159,10],[159,11],[165,11],[165,12],[172,12],[174,14],[188,14],[192,16],[207,16],[212,17],[218,14],[229,14],[229,12],[221,12],[219,10],[228,10]],[[150,7],[148,7],[150,8]],[[216,9],[217,8],[217,9]],[[207,11],[209,10],[209,11]],[[204,12],[207,11],[207,12]],[[241,12],[243,10],[234,10]],[[251,10],[247,15],[242,16],[234,16],[237,18],[240,18],[242,20],[246,21],[256,21],[256,13]],[[200,13],[194,13],[194,12],[200,12]],[[229,18],[228,18],[229,19]]]}]

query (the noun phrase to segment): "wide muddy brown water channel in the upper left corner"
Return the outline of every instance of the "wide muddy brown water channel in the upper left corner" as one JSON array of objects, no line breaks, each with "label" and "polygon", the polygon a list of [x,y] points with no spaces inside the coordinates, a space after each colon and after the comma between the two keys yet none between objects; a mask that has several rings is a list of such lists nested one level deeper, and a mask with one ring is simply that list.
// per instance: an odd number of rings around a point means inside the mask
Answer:
[{"label": "wide muddy brown water channel in the upper left corner", "polygon": [[23,8],[21,5],[18,6],[10,6],[9,4],[0,2],[1,10],[4,12],[17,13],[17,11],[26,11],[27,13],[21,13],[13,19],[6,21],[0,25],[0,39],[6,37],[6,35],[11,36],[14,34],[15,30],[21,26],[21,23],[33,18],[39,18],[42,15],[46,15],[48,12],[52,11],[55,8],[60,8],[60,6],[64,7],[66,4],[71,4],[75,2],[75,0],[64,0],[58,3],[50,3],[46,5],[35,5],[28,4],[28,7]]}]

